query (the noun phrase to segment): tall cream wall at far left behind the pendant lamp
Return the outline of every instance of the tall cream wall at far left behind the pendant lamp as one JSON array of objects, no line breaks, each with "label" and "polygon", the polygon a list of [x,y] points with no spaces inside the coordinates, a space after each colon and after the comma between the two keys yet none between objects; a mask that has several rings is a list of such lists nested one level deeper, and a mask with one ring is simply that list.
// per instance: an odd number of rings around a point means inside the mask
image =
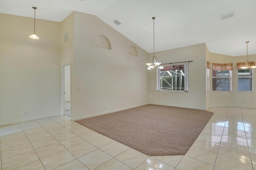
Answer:
[{"label": "tall cream wall at far left behind the pendant lamp", "polygon": [[39,40],[34,18],[0,23],[0,125],[60,115],[60,23],[36,19]]}]

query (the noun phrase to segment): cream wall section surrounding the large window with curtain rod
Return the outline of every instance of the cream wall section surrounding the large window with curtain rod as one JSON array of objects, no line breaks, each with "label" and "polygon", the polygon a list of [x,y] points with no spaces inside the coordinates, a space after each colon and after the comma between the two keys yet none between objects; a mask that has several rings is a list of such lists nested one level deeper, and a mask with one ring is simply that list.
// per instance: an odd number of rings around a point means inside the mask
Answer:
[{"label": "cream wall section surrounding the large window with curtain rod", "polygon": [[[152,60],[153,54],[148,57]],[[156,91],[156,69],[148,70],[149,102],[151,104],[206,110],[206,45],[198,44],[156,52],[158,62],[193,61],[188,65],[188,92]],[[146,66],[145,68],[146,69]]]}]

